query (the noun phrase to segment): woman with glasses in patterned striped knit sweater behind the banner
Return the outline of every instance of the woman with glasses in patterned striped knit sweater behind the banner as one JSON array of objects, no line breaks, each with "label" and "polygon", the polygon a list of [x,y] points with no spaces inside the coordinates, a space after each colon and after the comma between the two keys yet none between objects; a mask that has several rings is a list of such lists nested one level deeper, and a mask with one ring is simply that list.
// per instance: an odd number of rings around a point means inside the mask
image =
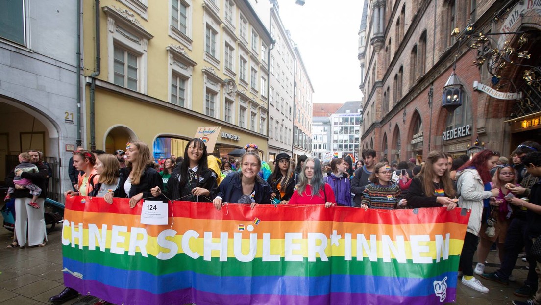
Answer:
[{"label": "woman with glasses in patterned striped knit sweater behind the banner", "polygon": [[394,210],[404,209],[407,205],[406,199],[400,199],[400,187],[391,181],[393,171],[385,163],[378,163],[368,178],[372,181],[368,184],[361,196],[361,208]]}]

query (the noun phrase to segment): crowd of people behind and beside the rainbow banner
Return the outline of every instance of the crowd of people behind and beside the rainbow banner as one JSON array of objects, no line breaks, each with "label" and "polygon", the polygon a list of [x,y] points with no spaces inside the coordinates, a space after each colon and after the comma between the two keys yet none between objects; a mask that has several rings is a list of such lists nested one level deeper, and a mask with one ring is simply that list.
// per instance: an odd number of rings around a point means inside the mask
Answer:
[{"label": "crowd of people behind and beside the rainbow banner", "polygon": [[[72,189],[66,196],[129,198],[131,208],[141,199],[212,202],[217,210],[229,203],[314,205],[393,210],[457,206],[469,209],[471,216],[460,255],[459,276],[466,287],[489,293],[474,277],[507,284],[519,252],[529,252],[533,240],[541,235],[541,145],[526,141],[509,159],[491,150],[473,156],[453,158],[432,151],[424,162],[410,159],[378,162],[377,152],[362,152],[362,160],[351,156],[321,162],[301,156],[295,161],[287,154],[273,161],[261,160],[258,146],[250,143],[239,159],[216,158],[207,153],[200,139],[192,139],[183,157],[171,155],[155,162],[148,145],[142,141],[127,144],[126,151],[114,154],[87,151],[78,147],[72,155]],[[19,156],[21,165],[6,178],[11,186],[8,196],[16,198],[17,239],[11,246],[41,245],[47,241],[43,222],[43,198],[47,168],[32,151]],[[41,211],[39,209],[42,209]],[[39,216],[41,215],[41,216]],[[41,218],[40,218],[41,217]],[[27,220],[28,219],[28,220]],[[17,244],[15,244],[17,243]],[[492,246],[498,249],[502,267],[485,273],[485,259]],[[477,251],[477,265],[473,268]],[[539,304],[538,277],[533,259],[524,286],[518,296],[535,295],[527,302]],[[539,272],[539,269],[538,269]],[[66,288],[51,297],[64,302],[78,292]]]}]

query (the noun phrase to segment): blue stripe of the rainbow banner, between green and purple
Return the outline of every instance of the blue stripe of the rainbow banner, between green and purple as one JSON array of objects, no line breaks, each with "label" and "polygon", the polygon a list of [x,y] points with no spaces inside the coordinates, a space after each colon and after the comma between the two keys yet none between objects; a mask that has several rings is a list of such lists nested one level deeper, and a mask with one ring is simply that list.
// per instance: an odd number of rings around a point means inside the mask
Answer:
[{"label": "blue stripe of the rainbow banner, between green and purple", "polygon": [[[381,294],[391,296],[426,296],[434,294],[433,282],[447,276],[447,288],[456,288],[457,272],[437,277],[386,277],[367,275],[298,276],[213,276],[181,271],[156,276],[144,271],[124,270],[95,263],[81,263],[64,257],[64,267],[83,274],[83,280],[95,280],[124,289],[142,289],[154,294],[194,288],[226,295],[325,295],[331,293]],[[160,283],[160,286],[156,284]],[[279,283],[279,284],[276,284]],[[377,291],[374,291],[374,288]],[[329,291],[329,289],[331,291]]]}]

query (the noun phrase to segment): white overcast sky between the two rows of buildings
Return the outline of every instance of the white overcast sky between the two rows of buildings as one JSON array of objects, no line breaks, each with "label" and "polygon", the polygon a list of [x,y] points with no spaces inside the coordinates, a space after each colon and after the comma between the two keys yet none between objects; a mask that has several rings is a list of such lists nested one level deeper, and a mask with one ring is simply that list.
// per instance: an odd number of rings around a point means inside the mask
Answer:
[{"label": "white overcast sky between the two rows of buildings", "polygon": [[279,0],[279,14],[299,46],[314,103],[361,100],[357,60],[363,0]]}]

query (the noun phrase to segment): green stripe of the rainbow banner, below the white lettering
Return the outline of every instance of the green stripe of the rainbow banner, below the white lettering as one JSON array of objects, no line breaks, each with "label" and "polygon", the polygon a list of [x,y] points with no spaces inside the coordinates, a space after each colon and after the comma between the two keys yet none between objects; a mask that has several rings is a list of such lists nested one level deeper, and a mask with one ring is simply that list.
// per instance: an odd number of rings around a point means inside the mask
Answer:
[{"label": "green stripe of the rainbow banner, below the white lettering", "polygon": [[[84,253],[84,259],[83,257]],[[250,263],[237,261],[229,257],[227,262],[220,262],[217,257],[212,261],[204,261],[203,257],[193,259],[185,254],[177,254],[175,257],[163,261],[154,256],[142,257],[140,252],[136,256],[127,254],[113,254],[106,249],[83,250],[63,246],[63,256],[84,263],[101,264],[108,267],[114,267],[125,270],[141,270],[154,275],[169,274],[173,272],[193,270],[199,274],[208,274],[216,276],[324,276],[331,274],[330,264],[332,263],[333,274],[352,274],[352,275],[375,275],[375,276],[398,276],[398,277],[432,277],[440,275],[443,272],[458,270],[459,256],[449,256],[449,259],[432,264],[414,264],[411,259],[407,263],[398,263],[392,259],[390,263],[385,263],[382,259],[378,262],[370,262],[367,258],[363,261],[345,261],[344,257],[329,257],[329,261],[321,262],[318,258],[316,262],[285,262],[283,257],[280,262],[263,262],[261,258],[255,258]],[[164,264],[167,262],[167,264]],[[308,268],[306,268],[308,265]],[[161,268],[158,268],[158,267]],[[304,270],[304,274],[299,275],[299,271]]]}]

